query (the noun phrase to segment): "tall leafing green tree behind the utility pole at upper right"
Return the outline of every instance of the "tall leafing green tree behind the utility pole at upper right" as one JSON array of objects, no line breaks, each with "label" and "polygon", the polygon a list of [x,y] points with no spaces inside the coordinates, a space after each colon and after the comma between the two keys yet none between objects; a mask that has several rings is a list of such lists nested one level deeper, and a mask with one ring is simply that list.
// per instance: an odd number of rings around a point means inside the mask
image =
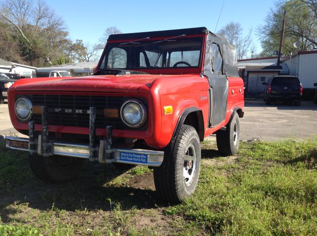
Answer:
[{"label": "tall leafing green tree behind the utility pole at upper right", "polygon": [[[315,3],[315,4],[314,4]],[[317,48],[317,4],[316,0],[279,0],[258,28],[263,51],[262,56],[272,56],[279,48],[283,13],[286,10],[285,39],[283,53],[290,55],[297,50]],[[294,48],[299,42],[299,48]]]}]

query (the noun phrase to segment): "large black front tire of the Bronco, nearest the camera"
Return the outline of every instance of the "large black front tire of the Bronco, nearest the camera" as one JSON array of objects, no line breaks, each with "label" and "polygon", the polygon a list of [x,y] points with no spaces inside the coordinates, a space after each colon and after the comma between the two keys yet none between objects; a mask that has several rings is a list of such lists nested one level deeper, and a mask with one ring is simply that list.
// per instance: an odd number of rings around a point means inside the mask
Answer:
[{"label": "large black front tire of the Bronco, nearest the camera", "polygon": [[[186,161],[186,154],[195,161]],[[201,146],[197,131],[192,126],[183,125],[165,148],[163,163],[154,168],[155,187],[160,197],[170,203],[191,197],[197,188],[200,162]],[[186,168],[188,166],[191,167]],[[187,173],[186,176],[184,173]]]}]

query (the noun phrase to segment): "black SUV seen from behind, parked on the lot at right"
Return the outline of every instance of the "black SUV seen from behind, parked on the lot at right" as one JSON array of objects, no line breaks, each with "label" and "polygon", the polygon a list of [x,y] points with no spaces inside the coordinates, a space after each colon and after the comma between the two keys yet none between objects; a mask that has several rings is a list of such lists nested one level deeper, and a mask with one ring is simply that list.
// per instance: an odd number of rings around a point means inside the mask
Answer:
[{"label": "black SUV seen from behind, parked on the lot at right", "polygon": [[266,105],[271,102],[294,102],[301,105],[303,86],[295,76],[273,76],[264,89],[264,101]]}]

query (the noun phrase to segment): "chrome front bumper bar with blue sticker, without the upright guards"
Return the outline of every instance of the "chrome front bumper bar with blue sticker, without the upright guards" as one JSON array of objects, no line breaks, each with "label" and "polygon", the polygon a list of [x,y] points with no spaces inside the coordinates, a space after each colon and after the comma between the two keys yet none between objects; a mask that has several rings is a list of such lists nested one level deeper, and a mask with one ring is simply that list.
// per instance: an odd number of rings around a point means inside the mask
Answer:
[{"label": "chrome front bumper bar with blue sticker, without the upright guards", "polygon": [[[40,141],[39,141],[40,140]],[[40,156],[43,155],[41,136],[38,140],[33,141],[33,145],[37,147],[36,149],[30,149],[30,142],[27,138],[18,138],[18,137],[5,137],[5,145],[9,149],[28,151],[31,154],[36,153]],[[103,141],[99,147],[95,147],[95,150],[98,151],[99,157],[98,160],[102,163],[106,162],[118,162],[118,163],[127,163],[135,165],[147,165],[147,166],[160,166],[163,161],[164,152],[143,150],[143,149],[111,149],[105,150],[103,146]],[[91,159],[89,145],[83,144],[73,144],[73,143],[62,143],[62,142],[51,142],[51,155],[59,155],[65,157],[78,157]],[[100,148],[101,147],[101,148]],[[105,157],[105,153],[108,153],[110,158]],[[93,159],[97,160],[97,158]]]}]

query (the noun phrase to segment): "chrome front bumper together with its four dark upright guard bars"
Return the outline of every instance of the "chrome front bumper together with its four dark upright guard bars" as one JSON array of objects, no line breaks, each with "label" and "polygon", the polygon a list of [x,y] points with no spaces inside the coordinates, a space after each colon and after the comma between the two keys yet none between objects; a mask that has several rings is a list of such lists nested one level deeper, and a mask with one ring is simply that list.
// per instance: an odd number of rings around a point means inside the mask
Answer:
[{"label": "chrome front bumper together with its four dark upright guard bars", "polygon": [[[9,149],[28,151],[31,155],[49,157],[53,155],[85,158],[101,163],[118,162],[135,165],[160,166],[164,152],[143,149],[112,148],[112,126],[106,126],[106,137],[96,145],[96,109],[90,108],[89,145],[49,141],[47,107],[42,107],[42,133],[38,136],[34,121],[29,121],[29,138],[5,137]],[[37,136],[37,139],[36,139]]]}]

